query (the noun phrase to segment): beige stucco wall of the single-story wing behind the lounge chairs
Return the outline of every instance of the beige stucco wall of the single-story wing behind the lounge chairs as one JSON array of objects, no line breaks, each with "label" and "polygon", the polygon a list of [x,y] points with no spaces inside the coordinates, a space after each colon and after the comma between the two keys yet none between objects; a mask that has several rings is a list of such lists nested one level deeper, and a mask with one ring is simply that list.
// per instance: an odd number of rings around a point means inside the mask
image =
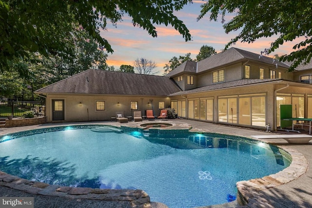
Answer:
[{"label": "beige stucco wall of the single-story wing behind the lounge chairs", "polygon": [[[142,115],[146,115],[147,109],[154,109],[154,115],[160,115],[158,102],[165,102],[165,107],[170,105],[168,97],[136,97],[136,96],[100,96],[100,95],[47,95],[46,116],[47,122],[52,120],[52,101],[64,100],[64,121],[58,122],[79,122],[79,121],[107,121],[115,117],[116,112],[123,112],[124,116],[133,116],[130,102],[136,101]],[[153,101],[150,101],[153,100]],[[96,101],[105,101],[105,110],[96,110]],[[81,106],[79,103],[81,102]],[[119,106],[118,104],[119,103]],[[148,104],[150,103],[150,104]],[[153,104],[153,105],[152,105]]]}]

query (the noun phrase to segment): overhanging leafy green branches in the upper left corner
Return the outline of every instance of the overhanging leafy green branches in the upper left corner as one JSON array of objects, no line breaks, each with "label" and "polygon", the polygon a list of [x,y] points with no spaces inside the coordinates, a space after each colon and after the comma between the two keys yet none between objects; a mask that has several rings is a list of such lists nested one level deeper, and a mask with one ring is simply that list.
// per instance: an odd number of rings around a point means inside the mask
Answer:
[{"label": "overhanging leafy green branches in the upper left corner", "polygon": [[71,57],[72,32],[79,24],[108,52],[111,45],[100,36],[107,22],[117,25],[124,13],[132,18],[134,26],[142,27],[156,37],[155,24],[172,25],[185,39],[191,40],[186,25],[174,11],[192,0],[0,0],[0,72],[8,70],[9,62],[24,59],[29,53],[38,52],[48,57],[58,52]]}]

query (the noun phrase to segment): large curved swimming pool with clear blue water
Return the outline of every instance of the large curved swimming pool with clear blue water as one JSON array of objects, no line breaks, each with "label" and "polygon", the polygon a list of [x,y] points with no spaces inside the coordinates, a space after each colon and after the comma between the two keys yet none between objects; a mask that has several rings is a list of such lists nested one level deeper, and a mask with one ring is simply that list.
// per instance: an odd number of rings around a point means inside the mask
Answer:
[{"label": "large curved swimming pool with clear blue water", "polygon": [[143,189],[170,208],[225,203],[237,181],[290,165],[276,146],[218,134],[159,137],[83,125],[0,141],[0,170],[9,174],[62,186]]}]

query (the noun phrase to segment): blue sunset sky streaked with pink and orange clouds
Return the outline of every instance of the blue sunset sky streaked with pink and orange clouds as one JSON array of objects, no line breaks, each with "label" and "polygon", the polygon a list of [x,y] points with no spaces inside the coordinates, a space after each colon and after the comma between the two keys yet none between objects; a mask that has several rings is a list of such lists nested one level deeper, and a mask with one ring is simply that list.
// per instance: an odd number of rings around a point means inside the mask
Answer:
[{"label": "blue sunset sky streaked with pink and orange clouds", "polygon": [[[108,40],[114,50],[113,54],[108,54],[107,63],[109,66],[119,68],[121,64],[134,65],[137,58],[145,58],[156,62],[156,75],[162,75],[163,67],[174,56],[184,56],[191,53],[191,58],[195,59],[199,49],[203,45],[209,45],[215,48],[219,53],[227,42],[238,34],[231,32],[226,34],[220,21],[209,21],[206,15],[200,21],[196,21],[200,13],[200,5],[204,1],[194,0],[193,4],[186,5],[182,10],[176,12],[176,16],[182,20],[193,37],[193,41],[185,42],[182,35],[179,34],[171,25],[155,25],[157,38],[153,38],[143,28],[134,27],[132,19],[124,15],[123,21],[117,22],[117,27],[108,22],[107,30],[101,31],[101,36]],[[230,15],[226,16],[227,20],[232,19]],[[276,37],[275,37],[276,38]],[[265,48],[269,48],[274,37],[259,39],[254,43],[237,42],[233,47],[251,51],[260,54]],[[293,42],[285,42],[283,46],[270,54],[284,55],[292,51]]]}]

